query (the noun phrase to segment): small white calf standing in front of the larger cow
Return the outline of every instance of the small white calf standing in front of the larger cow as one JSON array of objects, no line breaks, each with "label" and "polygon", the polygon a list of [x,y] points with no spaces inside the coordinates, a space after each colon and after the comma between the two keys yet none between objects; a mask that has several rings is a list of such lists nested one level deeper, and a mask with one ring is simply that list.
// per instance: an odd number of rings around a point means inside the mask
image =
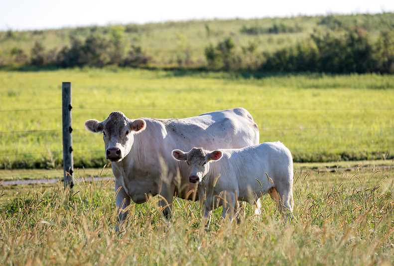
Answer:
[{"label": "small white calf standing in front of the larger cow", "polygon": [[189,181],[198,183],[198,196],[204,217],[223,206],[222,217],[232,219],[237,201],[254,204],[269,193],[283,212],[293,211],[293,159],[280,142],[266,142],[241,149],[207,151],[193,148],[185,153],[173,150],[172,156],[186,161]]}]

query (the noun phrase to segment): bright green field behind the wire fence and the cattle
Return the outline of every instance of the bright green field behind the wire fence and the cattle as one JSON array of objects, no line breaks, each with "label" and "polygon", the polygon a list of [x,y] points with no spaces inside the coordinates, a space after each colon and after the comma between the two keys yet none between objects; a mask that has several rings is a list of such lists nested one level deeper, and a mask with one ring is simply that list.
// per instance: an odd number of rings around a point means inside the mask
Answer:
[{"label": "bright green field behind the wire fence and the cattle", "polygon": [[118,110],[129,118],[182,118],[245,107],[259,125],[261,142],[283,142],[296,162],[394,158],[391,75],[254,78],[109,68],[1,71],[1,168],[62,167],[62,81],[72,82],[77,168],[107,164],[102,136],[86,131],[84,122]]}]

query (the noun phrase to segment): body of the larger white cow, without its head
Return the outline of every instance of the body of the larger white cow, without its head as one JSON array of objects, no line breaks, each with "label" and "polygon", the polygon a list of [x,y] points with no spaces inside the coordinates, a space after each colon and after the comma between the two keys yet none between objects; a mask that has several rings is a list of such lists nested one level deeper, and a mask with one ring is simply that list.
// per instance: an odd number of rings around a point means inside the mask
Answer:
[{"label": "body of the larger white cow, without its head", "polygon": [[[171,152],[174,149],[228,149],[259,142],[259,128],[244,108],[215,111],[183,119],[142,119],[146,122],[146,128],[135,134],[131,151],[125,158],[129,165],[126,169],[125,185],[127,184],[128,190],[135,194],[136,198],[141,198],[144,193],[159,193],[160,176],[163,172],[173,182],[177,174],[180,174],[179,185],[182,192],[177,188],[175,192],[182,198],[185,197],[183,192],[194,187],[189,182],[187,164],[172,158]],[[129,169],[131,166],[132,169]]]}]

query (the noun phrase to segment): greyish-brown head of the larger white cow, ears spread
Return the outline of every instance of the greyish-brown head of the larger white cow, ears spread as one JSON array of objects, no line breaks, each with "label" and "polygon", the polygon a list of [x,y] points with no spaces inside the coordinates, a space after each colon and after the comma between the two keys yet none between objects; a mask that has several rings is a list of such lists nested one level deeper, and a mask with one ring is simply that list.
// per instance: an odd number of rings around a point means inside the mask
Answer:
[{"label": "greyish-brown head of the larger white cow, ears spread", "polygon": [[134,142],[134,134],[146,127],[145,120],[130,120],[122,112],[112,112],[100,122],[90,119],[85,122],[87,130],[93,133],[103,133],[106,158],[111,162],[119,162],[129,154]]}]

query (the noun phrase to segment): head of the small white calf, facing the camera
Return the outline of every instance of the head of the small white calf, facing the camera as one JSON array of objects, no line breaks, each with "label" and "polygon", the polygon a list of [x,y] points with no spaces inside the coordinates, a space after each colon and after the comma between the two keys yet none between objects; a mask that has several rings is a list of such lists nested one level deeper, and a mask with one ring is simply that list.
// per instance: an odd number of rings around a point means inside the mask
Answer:
[{"label": "head of the small white calf, facing the camera", "polygon": [[178,161],[186,161],[189,166],[189,182],[197,183],[209,172],[209,162],[217,161],[222,158],[222,152],[219,150],[208,152],[203,148],[193,148],[189,152],[173,150],[172,156]]}]

